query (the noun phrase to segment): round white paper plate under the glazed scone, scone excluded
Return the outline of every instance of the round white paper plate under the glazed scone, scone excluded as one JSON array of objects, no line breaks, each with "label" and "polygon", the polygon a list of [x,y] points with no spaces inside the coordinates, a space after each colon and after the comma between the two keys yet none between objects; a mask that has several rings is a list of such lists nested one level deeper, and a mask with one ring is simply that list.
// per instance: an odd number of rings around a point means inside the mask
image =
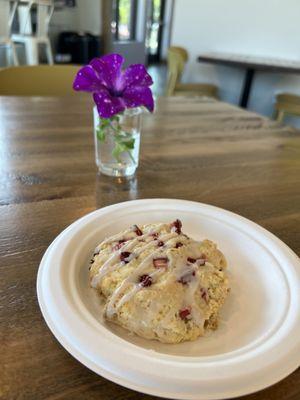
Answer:
[{"label": "round white paper plate under the glazed scone, scone excluded", "polygon": [[[218,243],[232,290],[217,331],[166,345],[103,321],[101,300],[89,287],[88,261],[108,235],[176,218],[192,237]],[[136,200],[86,215],[46,251],[37,291],[43,316],[62,346],[99,375],[144,393],[225,399],[265,388],[300,364],[299,258],[260,226],[206,204]]]}]

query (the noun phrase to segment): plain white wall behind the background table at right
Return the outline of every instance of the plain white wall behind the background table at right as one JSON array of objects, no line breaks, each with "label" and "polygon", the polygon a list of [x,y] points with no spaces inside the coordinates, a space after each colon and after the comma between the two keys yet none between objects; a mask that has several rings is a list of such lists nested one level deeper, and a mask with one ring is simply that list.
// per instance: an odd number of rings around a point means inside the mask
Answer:
[{"label": "plain white wall behind the background table at right", "polygon": [[[299,21],[299,0],[175,0],[171,43],[189,52],[185,81],[216,83],[221,98],[237,104],[244,71],[197,57],[221,51],[300,61]],[[300,75],[256,73],[249,109],[271,115],[282,91],[300,94]]]}]

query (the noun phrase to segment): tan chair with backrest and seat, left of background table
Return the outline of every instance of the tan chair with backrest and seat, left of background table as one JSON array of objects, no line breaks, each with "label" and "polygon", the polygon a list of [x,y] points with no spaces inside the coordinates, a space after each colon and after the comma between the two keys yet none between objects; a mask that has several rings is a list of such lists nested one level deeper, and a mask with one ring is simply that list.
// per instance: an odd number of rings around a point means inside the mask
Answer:
[{"label": "tan chair with backrest and seat, left of background table", "polygon": [[168,50],[168,83],[167,96],[209,96],[218,98],[218,88],[206,83],[180,83],[181,76],[188,60],[188,53],[183,47],[173,46]]}]

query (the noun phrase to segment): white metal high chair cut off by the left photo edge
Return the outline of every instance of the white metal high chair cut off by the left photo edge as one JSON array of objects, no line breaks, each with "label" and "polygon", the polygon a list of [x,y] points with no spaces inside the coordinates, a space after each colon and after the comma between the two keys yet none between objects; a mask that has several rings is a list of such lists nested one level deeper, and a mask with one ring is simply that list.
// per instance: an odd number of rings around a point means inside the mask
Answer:
[{"label": "white metal high chair cut off by the left photo edge", "polygon": [[11,50],[12,52],[14,65],[19,64],[15,44],[11,40],[11,27],[17,5],[17,1],[0,0],[0,46],[5,46],[7,65],[10,64],[8,50]]}]

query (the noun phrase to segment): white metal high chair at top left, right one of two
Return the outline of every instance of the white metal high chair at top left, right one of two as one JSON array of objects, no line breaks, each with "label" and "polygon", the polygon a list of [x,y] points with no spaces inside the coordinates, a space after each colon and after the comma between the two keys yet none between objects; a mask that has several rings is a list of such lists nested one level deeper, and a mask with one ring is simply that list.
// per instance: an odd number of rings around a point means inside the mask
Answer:
[{"label": "white metal high chair at top left, right one of two", "polygon": [[[48,36],[50,19],[54,11],[54,4],[51,0],[29,0],[22,1],[18,6],[19,33],[12,35],[12,40],[25,45],[26,62],[29,65],[39,63],[39,45],[45,45],[48,64],[53,64],[53,54]],[[31,10],[37,9],[36,33],[32,32]]]}]

